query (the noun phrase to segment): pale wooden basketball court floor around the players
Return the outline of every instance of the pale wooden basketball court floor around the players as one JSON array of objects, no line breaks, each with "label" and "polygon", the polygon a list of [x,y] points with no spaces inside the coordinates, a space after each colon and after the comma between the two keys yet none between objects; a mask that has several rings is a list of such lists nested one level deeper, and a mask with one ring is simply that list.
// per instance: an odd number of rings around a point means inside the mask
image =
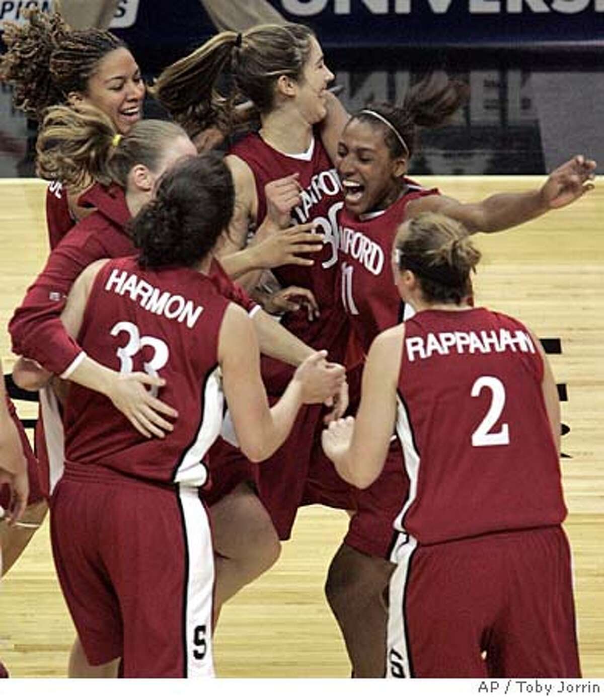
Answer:
[{"label": "pale wooden basketball court floor around the players", "polygon": [[[462,201],[536,187],[544,177],[424,177]],[[43,266],[45,184],[0,181],[0,356],[10,368],[6,323]],[[542,339],[566,392],[562,459],[575,561],[584,677],[604,677],[604,188],[540,220],[479,235],[476,300],[518,316]],[[557,341],[550,342],[556,348]],[[17,404],[22,417],[35,415]],[[215,641],[219,675],[347,677],[338,627],[323,598],[331,555],[347,516],[322,507],[299,514],[278,564],[222,611]],[[65,676],[74,631],[50,553],[47,523],[0,589],[0,657],[14,677]]]}]

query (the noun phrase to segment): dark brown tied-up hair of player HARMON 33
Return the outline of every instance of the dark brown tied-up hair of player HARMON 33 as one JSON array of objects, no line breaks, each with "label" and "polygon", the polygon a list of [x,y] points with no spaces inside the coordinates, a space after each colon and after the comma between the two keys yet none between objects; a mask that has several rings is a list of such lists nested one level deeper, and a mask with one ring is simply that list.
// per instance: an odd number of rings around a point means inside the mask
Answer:
[{"label": "dark brown tied-up hair of player HARMON 33", "polygon": [[234,200],[231,172],[220,155],[204,153],[176,163],[130,224],[140,265],[194,266],[227,228]]}]

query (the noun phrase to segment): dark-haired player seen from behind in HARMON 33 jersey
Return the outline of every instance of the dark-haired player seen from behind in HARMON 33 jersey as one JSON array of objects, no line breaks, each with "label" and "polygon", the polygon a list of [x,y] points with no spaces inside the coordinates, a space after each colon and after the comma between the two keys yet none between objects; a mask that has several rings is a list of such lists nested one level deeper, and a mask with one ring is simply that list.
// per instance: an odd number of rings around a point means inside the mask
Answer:
[{"label": "dark-haired player seen from behind in HARMON 33 jersey", "polygon": [[233,202],[217,155],[176,164],[133,221],[139,258],[86,269],[62,314],[86,351],[84,369],[99,361],[160,376],[179,413],[165,439],[149,440],[98,392],[72,385],[66,402],[56,569],[89,662],[121,657],[124,677],[213,674],[213,555],[197,489],[220,431],[222,386],[241,448],[259,461],[299,406],[330,397],[344,376],[313,354],[269,409],[250,319],[209,278]]}]

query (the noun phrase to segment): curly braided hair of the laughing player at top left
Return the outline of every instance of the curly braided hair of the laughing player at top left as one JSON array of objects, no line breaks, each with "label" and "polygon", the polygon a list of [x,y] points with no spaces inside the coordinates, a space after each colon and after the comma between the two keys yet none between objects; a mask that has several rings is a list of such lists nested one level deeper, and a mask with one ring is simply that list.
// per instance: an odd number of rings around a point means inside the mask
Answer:
[{"label": "curly braided hair of the laughing player at top left", "polygon": [[70,92],[86,94],[88,81],[108,53],[126,48],[122,40],[101,29],[70,29],[59,13],[38,9],[24,13],[24,24],[6,22],[0,56],[0,80],[13,85],[13,104],[40,118]]}]

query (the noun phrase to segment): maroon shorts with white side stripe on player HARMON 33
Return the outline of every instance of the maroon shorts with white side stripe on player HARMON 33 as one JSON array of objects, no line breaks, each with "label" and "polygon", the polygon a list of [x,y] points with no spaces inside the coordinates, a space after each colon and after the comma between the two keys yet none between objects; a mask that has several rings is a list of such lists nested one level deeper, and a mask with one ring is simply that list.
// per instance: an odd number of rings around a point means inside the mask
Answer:
[{"label": "maroon shorts with white side stripe on player HARMON 33", "polygon": [[52,551],[92,665],[124,677],[213,675],[213,553],[196,488],[73,465],[52,497]]}]

